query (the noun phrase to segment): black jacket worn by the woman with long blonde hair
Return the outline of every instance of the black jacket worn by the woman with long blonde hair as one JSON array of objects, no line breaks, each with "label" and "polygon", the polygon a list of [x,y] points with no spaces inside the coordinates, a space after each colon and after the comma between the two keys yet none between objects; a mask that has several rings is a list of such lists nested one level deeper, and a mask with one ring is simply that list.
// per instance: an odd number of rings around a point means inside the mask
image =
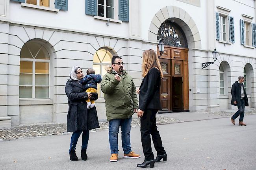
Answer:
[{"label": "black jacket worn by the woman with long blonde hair", "polygon": [[160,71],[152,67],[139,87],[139,109],[160,109]]}]

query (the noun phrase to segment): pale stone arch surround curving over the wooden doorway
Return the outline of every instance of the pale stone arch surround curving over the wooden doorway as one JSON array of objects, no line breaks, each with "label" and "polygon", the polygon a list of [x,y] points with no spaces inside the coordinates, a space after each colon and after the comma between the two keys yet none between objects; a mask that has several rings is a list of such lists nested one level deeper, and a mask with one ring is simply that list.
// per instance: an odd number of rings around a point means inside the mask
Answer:
[{"label": "pale stone arch surround curving over the wooden doorway", "polygon": [[193,18],[182,8],[166,6],[160,9],[152,18],[148,30],[148,40],[156,42],[158,30],[165,20],[178,24],[186,34],[189,48],[201,48],[201,38]]}]

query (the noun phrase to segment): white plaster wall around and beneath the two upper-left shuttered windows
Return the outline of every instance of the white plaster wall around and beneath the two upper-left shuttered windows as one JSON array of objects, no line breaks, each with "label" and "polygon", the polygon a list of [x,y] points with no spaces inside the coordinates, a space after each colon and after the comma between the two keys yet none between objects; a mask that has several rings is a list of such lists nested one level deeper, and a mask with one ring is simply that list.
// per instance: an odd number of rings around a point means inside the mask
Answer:
[{"label": "white plaster wall around and beneath the two upper-left shuttered windows", "polygon": [[[59,10],[57,13],[22,7],[20,3],[12,1],[10,1],[9,9],[9,19],[12,22],[80,30],[96,34],[110,34],[122,37],[128,37],[129,35],[128,22],[122,22],[121,24],[110,22],[109,26],[107,26],[107,21],[96,20],[93,16],[86,15],[85,0],[69,0],[68,11]],[[116,9],[118,10],[118,6]],[[130,13],[132,13],[132,11],[130,11]],[[115,19],[118,20],[118,17],[116,16]]]}]

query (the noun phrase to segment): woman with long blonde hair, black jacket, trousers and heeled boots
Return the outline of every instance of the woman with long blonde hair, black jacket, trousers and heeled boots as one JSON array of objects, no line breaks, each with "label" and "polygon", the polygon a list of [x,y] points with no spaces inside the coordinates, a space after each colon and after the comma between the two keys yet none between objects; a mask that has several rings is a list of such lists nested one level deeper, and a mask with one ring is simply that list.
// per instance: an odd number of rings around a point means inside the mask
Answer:
[{"label": "woman with long blonde hair, black jacket, trousers and heeled boots", "polygon": [[[156,127],[156,113],[160,109],[160,83],[163,78],[161,65],[156,52],[152,49],[143,52],[142,62],[143,81],[137,89],[139,94],[139,110],[138,117],[141,118],[141,143],[145,160],[137,167],[145,168],[150,165],[154,167],[155,162],[160,162],[161,159],[165,162],[167,154],[163,148],[160,134]],[[151,149],[151,139],[157,151],[156,159]]]}]

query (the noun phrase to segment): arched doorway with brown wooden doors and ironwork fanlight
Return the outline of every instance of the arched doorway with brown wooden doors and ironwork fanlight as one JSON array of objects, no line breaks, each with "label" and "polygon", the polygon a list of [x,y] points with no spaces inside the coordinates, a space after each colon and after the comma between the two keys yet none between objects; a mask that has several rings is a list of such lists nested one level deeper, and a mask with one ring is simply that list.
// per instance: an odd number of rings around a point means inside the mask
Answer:
[{"label": "arched doorway with brown wooden doors and ironwork fanlight", "polygon": [[161,111],[189,111],[188,47],[187,39],[178,24],[165,20],[158,30],[158,41],[165,43],[160,58],[163,71],[161,81]]}]

